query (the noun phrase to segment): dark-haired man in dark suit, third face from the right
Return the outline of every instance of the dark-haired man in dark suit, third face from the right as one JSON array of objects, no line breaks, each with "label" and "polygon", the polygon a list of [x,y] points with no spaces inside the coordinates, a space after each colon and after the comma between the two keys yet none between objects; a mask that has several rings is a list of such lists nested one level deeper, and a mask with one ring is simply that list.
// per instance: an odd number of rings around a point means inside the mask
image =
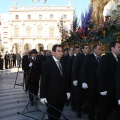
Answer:
[{"label": "dark-haired man in dark suit, third face from the right", "polygon": [[73,62],[72,67],[72,80],[73,80],[73,86],[74,86],[74,95],[75,95],[75,110],[77,117],[81,117],[81,105],[83,101],[85,100],[83,96],[85,96],[85,90],[82,89],[81,85],[81,68],[82,64],[84,62],[85,56],[89,53],[90,47],[87,44],[82,45],[82,54],[78,54]]}]

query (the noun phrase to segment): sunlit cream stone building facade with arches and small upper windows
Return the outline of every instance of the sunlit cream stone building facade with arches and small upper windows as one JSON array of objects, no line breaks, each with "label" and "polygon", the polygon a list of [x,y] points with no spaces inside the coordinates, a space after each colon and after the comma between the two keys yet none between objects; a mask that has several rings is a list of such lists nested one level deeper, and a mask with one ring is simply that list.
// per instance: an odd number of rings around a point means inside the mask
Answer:
[{"label": "sunlit cream stone building facade with arches and small upper windows", "polygon": [[4,51],[51,50],[54,44],[61,43],[61,19],[63,28],[69,31],[74,12],[73,6],[12,7],[8,14],[0,15]]}]

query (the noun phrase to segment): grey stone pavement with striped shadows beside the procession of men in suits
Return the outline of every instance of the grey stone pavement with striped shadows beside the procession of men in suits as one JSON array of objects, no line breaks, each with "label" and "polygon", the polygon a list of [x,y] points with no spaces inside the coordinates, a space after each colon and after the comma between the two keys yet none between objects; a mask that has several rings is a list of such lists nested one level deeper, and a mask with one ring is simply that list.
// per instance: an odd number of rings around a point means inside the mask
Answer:
[{"label": "grey stone pavement with striped shadows beside the procession of men in suits", "polygon": [[[22,112],[28,103],[28,92],[23,90],[22,86],[15,86],[17,68],[11,70],[0,71],[0,120],[33,120],[17,114]],[[17,83],[22,83],[23,74],[18,74]],[[38,102],[41,111],[45,111],[45,105]],[[28,106],[29,110],[34,110],[34,107]],[[81,119],[76,118],[76,114],[69,107],[64,108],[64,114],[69,120],[88,120],[87,115],[83,114]],[[27,115],[41,120],[43,113],[32,112]],[[47,118],[47,116],[45,116]]]}]

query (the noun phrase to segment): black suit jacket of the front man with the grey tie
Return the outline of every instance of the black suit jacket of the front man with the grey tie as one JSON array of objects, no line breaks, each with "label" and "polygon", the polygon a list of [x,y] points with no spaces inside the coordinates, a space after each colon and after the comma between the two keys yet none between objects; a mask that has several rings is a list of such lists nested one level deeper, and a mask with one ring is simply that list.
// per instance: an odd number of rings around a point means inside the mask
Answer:
[{"label": "black suit jacket of the front man with the grey tie", "polygon": [[61,65],[63,76],[53,58],[42,65],[40,98],[46,98],[53,105],[64,103],[68,92],[65,65]]}]

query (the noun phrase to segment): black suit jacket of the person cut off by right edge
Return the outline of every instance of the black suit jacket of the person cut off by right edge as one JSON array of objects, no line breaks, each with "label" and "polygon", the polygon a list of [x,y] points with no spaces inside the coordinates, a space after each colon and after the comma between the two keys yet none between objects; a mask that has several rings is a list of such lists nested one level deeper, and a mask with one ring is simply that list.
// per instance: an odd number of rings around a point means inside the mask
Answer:
[{"label": "black suit jacket of the person cut off by right edge", "polygon": [[117,63],[115,72],[115,88],[116,88],[116,99],[120,100],[120,61]]}]

